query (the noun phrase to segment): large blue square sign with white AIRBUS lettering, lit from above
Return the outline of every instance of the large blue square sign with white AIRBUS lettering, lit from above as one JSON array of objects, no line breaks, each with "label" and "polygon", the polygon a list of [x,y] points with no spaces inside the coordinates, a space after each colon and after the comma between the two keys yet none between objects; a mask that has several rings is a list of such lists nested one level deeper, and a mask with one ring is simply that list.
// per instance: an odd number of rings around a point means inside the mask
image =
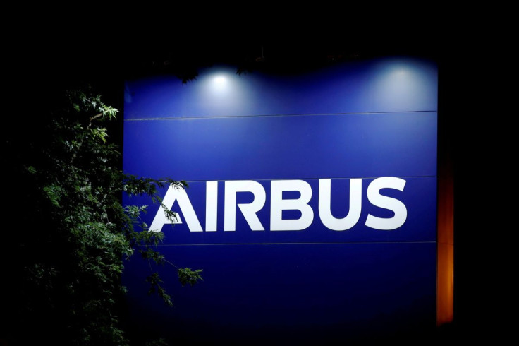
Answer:
[{"label": "large blue square sign with white AIRBUS lettering, lit from above", "polygon": [[[123,169],[188,181],[147,198],[160,250],[204,281],[176,304],[126,263],[136,328],[194,341],[354,340],[435,324],[437,71],[377,59],[298,76],[228,66],[128,80]],[[326,335],[326,336],[324,336]],[[295,338],[295,339],[294,339]]]}]

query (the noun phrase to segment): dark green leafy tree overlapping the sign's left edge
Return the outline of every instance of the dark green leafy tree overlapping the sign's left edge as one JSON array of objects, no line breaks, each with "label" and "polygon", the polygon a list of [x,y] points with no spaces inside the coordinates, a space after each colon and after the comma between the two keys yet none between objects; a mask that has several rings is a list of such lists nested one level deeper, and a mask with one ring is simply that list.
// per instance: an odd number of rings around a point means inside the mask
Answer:
[{"label": "dark green leafy tree overlapping the sign's left edge", "polygon": [[[117,109],[90,91],[68,93],[66,105],[54,110],[32,138],[38,143],[17,172],[24,181],[18,193],[28,206],[22,213],[28,223],[23,237],[11,239],[20,269],[18,287],[11,291],[17,305],[10,311],[13,321],[34,326],[37,335],[22,335],[18,327],[11,332],[18,335],[10,338],[13,344],[126,345],[118,315],[126,292],[123,260],[139,253],[155,263],[173,263],[157,251],[164,234],[147,232],[140,220],[147,206],[121,205],[122,193],[145,194],[161,203],[158,188],[187,184],[124,174],[105,126],[116,119]],[[178,268],[178,278],[193,285],[202,280],[200,272]],[[145,280],[150,293],[172,305],[158,273]]]}]

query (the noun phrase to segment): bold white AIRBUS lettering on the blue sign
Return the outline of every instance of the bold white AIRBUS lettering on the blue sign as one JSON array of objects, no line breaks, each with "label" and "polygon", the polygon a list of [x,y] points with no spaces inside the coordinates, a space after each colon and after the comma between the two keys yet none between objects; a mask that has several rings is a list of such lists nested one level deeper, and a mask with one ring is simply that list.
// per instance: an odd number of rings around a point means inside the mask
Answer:
[{"label": "bold white AIRBUS lettering on the blue sign", "polygon": [[[381,230],[391,230],[401,227],[407,219],[407,208],[402,201],[384,196],[382,189],[395,189],[403,191],[405,180],[396,177],[379,177],[371,181],[367,186],[367,200],[378,208],[384,208],[393,212],[392,217],[377,217],[368,214],[362,220],[367,227]],[[298,198],[283,199],[283,192],[297,191]],[[248,192],[254,196],[250,203],[237,203],[238,193]],[[315,217],[315,211],[308,204],[312,198],[312,188],[307,181],[271,180],[270,181],[270,231],[300,231],[309,227]],[[163,204],[171,210],[175,201],[178,203],[181,214],[188,225],[190,232],[216,232],[218,221],[218,181],[206,181],[206,210],[205,227],[202,229],[197,213],[193,209],[188,193],[184,189],[169,186],[163,199]],[[350,179],[350,193],[348,215],[337,218],[331,213],[331,179],[319,179],[317,214],[322,224],[333,231],[346,231],[357,225],[362,210],[362,179]],[[224,181],[224,232],[236,231],[236,213],[239,209],[252,231],[264,231],[265,222],[259,220],[257,212],[262,210],[267,201],[267,193],[259,182],[254,180]],[[238,208],[236,208],[238,207]],[[297,219],[283,219],[283,210],[298,210],[300,217]],[[149,232],[161,232],[166,224],[182,223],[180,215],[176,214],[174,220],[166,217],[161,207],[154,217]]]}]

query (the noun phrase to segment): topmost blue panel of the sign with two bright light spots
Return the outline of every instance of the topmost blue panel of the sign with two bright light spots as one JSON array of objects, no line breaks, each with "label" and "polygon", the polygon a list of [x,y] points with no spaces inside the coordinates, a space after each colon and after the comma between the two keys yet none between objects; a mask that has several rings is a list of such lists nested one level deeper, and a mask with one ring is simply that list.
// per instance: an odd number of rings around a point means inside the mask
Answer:
[{"label": "topmost blue panel of the sign with two bright light spots", "polygon": [[184,85],[174,76],[128,81],[125,95],[125,119],[246,117],[436,111],[438,88],[434,64],[394,58],[300,76],[216,66]]}]

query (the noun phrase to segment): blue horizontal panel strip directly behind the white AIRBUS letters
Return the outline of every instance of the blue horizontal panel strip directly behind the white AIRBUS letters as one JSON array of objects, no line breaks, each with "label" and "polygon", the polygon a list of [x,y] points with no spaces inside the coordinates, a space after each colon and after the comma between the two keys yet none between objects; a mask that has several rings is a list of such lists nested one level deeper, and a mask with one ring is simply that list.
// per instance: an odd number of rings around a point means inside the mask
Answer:
[{"label": "blue horizontal panel strip directly behind the white AIRBUS letters", "polygon": [[[326,228],[319,219],[318,196],[319,181],[317,179],[307,179],[312,187],[312,199],[308,205],[314,211],[314,220],[310,227],[298,231],[271,231],[270,225],[270,181],[259,180],[259,184],[264,187],[267,200],[264,207],[257,212],[257,216],[262,222],[264,231],[252,231],[243,215],[236,213],[236,231],[224,231],[224,182],[219,182],[218,198],[218,222],[216,232],[190,232],[188,225],[180,214],[183,223],[176,225],[164,225],[162,232],[165,233],[164,244],[276,244],[276,243],[343,243],[343,242],[367,242],[367,241],[436,241],[436,201],[433,198],[423,198],[424,196],[434,196],[436,193],[436,179],[427,178],[407,178],[404,191],[389,189],[385,192],[387,196],[396,198],[404,203],[408,209],[407,220],[404,225],[393,230],[372,229],[365,226],[368,214],[378,217],[391,217],[393,213],[389,210],[378,208],[372,205],[366,197],[367,186],[373,179],[363,179],[362,181],[362,213],[357,224],[351,229],[344,231],[334,231]],[[345,217],[349,208],[349,179],[332,180],[331,213],[336,217]],[[187,189],[190,202],[193,204],[197,218],[205,226],[205,182],[195,181],[190,183]],[[164,195],[164,192],[162,193]],[[295,193],[298,195],[298,193]],[[296,198],[287,197],[287,198]],[[252,193],[238,193],[238,203],[250,203]],[[126,198],[125,203],[135,203],[145,205],[149,203],[146,198],[132,197]],[[158,205],[149,208],[149,212],[142,215],[142,220],[147,225],[152,224],[152,220],[157,211]],[[173,210],[179,210],[178,203],[173,204]],[[300,212],[288,211],[283,214],[283,219],[296,219],[300,217]]]}]

